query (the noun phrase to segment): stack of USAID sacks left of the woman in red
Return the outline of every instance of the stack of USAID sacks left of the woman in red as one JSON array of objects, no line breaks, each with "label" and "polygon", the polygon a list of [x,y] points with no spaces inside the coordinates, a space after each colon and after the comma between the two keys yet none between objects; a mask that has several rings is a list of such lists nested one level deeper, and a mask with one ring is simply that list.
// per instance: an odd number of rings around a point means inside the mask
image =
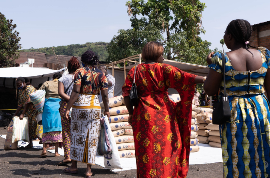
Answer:
[{"label": "stack of USAID sacks left of the woman in red", "polygon": [[[120,158],[135,157],[132,126],[128,124],[128,110],[123,96],[109,98],[110,127],[113,132]],[[104,111],[104,104],[101,102]]]}]

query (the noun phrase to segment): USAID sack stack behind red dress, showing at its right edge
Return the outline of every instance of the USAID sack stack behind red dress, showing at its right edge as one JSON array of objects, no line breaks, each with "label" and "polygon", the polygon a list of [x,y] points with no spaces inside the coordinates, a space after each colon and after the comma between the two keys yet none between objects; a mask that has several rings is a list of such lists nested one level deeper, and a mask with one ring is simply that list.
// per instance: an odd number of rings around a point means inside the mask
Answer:
[{"label": "USAID sack stack behind red dress, showing at its right edge", "polygon": [[[179,102],[180,101],[180,95],[179,94],[169,95],[169,98],[173,102]],[[197,113],[192,111],[192,116],[191,117],[192,117],[192,119],[191,119],[191,132],[190,132],[190,152],[198,152],[199,151],[199,146],[197,144],[199,144],[199,140],[198,140],[198,138],[196,138],[198,136],[196,131],[199,130],[199,126],[195,125],[197,123],[197,119],[196,119]]]}]

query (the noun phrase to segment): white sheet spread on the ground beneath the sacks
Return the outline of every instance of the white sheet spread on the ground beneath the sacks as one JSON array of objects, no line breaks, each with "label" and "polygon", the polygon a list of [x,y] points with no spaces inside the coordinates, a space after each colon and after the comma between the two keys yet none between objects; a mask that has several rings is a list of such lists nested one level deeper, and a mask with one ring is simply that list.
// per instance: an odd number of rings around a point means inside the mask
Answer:
[{"label": "white sheet spread on the ground beneath the sacks", "polygon": [[[2,138],[6,138],[6,135],[0,135]],[[18,146],[27,146],[28,143],[25,141],[19,141]],[[34,148],[42,149],[42,145],[38,144],[37,141],[33,141]],[[222,162],[222,151],[221,148],[214,148],[209,146],[208,144],[199,143],[200,147],[199,152],[190,153],[189,164],[209,164]],[[54,153],[54,149],[50,149],[47,151]],[[58,149],[58,153],[64,156],[64,149]],[[122,164],[122,170],[131,170],[136,169],[136,159],[135,158],[120,158],[120,162]],[[103,156],[96,156],[96,164],[104,167],[104,159]],[[112,169],[113,172],[121,171],[121,169]]]}]

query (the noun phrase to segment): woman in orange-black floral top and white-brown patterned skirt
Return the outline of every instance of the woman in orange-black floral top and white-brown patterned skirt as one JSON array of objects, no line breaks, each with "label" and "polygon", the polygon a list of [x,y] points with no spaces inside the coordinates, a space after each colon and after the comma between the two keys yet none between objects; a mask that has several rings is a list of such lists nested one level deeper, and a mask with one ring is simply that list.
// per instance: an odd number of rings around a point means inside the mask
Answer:
[{"label": "woman in orange-black floral top and white-brown patterned skirt", "polygon": [[[67,173],[77,173],[77,161],[87,164],[85,177],[91,177],[91,166],[95,164],[101,107],[98,99],[101,91],[102,101],[109,103],[108,82],[105,74],[96,65],[98,56],[87,50],[82,54],[82,66],[74,75],[73,91],[65,111],[69,118],[70,108],[70,159],[71,166],[64,169]],[[104,115],[110,117],[109,106],[104,104]]]}]

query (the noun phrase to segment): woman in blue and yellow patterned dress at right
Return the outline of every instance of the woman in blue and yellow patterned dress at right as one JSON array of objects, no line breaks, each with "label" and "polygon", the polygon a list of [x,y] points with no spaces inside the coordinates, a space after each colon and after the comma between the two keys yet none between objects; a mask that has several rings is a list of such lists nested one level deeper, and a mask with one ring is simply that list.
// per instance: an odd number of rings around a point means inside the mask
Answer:
[{"label": "woman in blue and yellow patterned dress at right", "polygon": [[[224,53],[231,119],[220,125],[224,177],[270,176],[270,52],[250,45],[251,32],[250,23],[237,19],[229,23],[223,37],[231,50]],[[211,96],[220,89],[222,95],[221,54],[210,53],[207,63],[205,92]]]}]

